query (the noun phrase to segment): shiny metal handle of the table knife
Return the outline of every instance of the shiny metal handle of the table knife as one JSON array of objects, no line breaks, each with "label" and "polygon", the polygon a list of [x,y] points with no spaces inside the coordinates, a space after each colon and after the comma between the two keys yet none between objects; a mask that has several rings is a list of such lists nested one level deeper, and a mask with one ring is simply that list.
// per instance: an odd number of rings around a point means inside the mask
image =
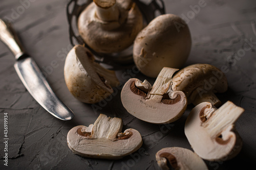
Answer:
[{"label": "shiny metal handle of the table knife", "polygon": [[25,51],[10,23],[0,19],[0,39],[10,48],[15,59],[24,56]]}]

